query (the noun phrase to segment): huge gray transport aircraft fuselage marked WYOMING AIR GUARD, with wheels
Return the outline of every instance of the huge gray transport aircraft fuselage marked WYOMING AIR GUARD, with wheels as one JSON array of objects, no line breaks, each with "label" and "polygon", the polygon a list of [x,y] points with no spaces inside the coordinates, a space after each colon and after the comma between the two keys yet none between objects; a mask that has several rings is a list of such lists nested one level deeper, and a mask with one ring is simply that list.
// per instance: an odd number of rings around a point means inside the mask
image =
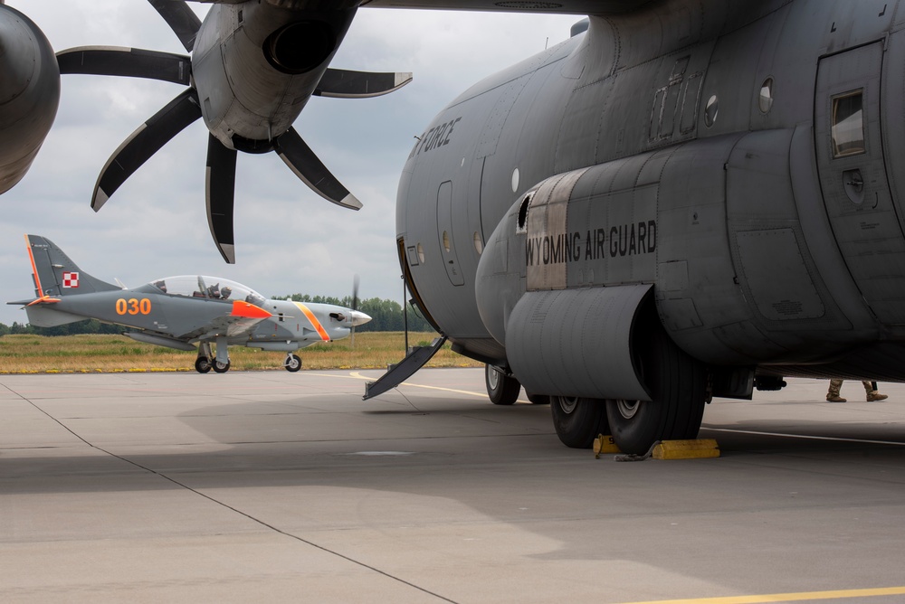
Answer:
[{"label": "huge gray transport aircraft fuselage marked WYOMING AIR GUARD, with wheels", "polygon": [[628,451],[782,376],[905,380],[905,3],[589,21],[405,165],[401,261],[454,349]]}]

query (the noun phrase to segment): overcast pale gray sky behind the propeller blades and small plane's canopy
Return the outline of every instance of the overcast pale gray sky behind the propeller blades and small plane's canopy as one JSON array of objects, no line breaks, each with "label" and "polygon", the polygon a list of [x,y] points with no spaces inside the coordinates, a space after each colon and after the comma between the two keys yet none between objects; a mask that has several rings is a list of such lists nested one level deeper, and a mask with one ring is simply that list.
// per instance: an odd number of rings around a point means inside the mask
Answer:
[{"label": "overcast pale gray sky behind the propeller blades and small plane's canopy", "polygon": [[[144,0],[8,0],[55,51],[114,45],[185,52]],[[192,3],[200,16],[207,5]],[[312,98],[295,127],[364,208],[312,193],[274,154],[239,154],[236,264],[224,263],[205,217],[207,133],[202,120],[152,157],[100,210],[90,196],[110,154],[182,91],[161,81],[62,78],[60,109],[28,175],[0,197],[4,302],[33,295],[24,233],[43,235],[96,278],[136,287],[200,273],[264,296],[346,296],[402,301],[395,255],[395,193],[414,135],[473,83],[567,39],[576,16],[361,9],[333,67],[412,71],[414,81],[376,99]],[[548,42],[549,41],[549,42]],[[0,305],[0,323],[25,322]]]}]

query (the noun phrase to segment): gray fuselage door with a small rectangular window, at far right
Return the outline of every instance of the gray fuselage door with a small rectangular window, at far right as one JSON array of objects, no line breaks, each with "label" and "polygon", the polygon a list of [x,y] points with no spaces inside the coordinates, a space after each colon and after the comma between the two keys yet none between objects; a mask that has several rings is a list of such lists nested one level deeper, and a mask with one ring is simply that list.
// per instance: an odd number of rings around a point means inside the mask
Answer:
[{"label": "gray fuselage door with a small rectangular window, at far right", "polygon": [[883,163],[882,61],[881,42],[820,61],[814,134],[824,204],[845,263],[881,323],[903,325],[905,238]]}]

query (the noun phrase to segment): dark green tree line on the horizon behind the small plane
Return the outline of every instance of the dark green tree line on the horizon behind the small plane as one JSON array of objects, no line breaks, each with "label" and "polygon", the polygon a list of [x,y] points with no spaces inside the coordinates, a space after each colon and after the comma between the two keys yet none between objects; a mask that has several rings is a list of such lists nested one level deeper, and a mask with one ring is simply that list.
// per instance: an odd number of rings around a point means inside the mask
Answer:
[{"label": "dark green tree line on the horizon behind the small plane", "polygon": [[[274,296],[274,300],[292,300],[293,302],[312,302],[316,304],[333,304],[338,307],[352,307],[352,297],[309,296],[308,294],[292,294],[291,296]],[[424,320],[421,311],[411,304],[406,305],[408,310],[408,330],[413,332],[433,331],[427,321]],[[357,332],[366,331],[405,331],[405,315],[403,307],[395,300],[381,300],[372,297],[367,300],[359,300],[357,309],[371,317],[371,320],[363,326],[357,326]],[[29,323],[13,322],[7,326],[0,323],[0,336],[17,334],[34,335],[78,335],[78,334],[119,334],[123,326],[101,323],[97,319],[85,319],[76,323],[68,323],[56,327],[37,327]]]}]

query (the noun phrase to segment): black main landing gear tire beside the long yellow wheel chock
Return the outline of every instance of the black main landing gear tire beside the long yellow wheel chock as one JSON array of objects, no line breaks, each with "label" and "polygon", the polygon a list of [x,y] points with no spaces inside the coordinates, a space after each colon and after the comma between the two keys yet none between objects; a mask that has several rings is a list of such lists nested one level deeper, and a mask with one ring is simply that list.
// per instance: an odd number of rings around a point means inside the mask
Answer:
[{"label": "black main landing gear tire beside the long yellow wheel chock", "polygon": [[707,397],[707,371],[673,344],[662,329],[653,332],[642,361],[653,401],[606,401],[615,444],[643,455],[657,440],[694,439]]}]

